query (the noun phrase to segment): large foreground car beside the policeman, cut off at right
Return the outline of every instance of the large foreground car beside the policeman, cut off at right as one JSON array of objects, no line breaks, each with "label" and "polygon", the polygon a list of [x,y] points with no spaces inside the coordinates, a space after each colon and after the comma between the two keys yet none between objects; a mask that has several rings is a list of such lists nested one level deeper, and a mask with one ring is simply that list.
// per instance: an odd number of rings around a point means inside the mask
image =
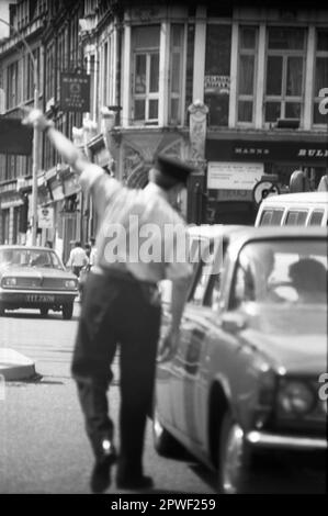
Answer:
[{"label": "large foreground car beside the policeman, cut off at right", "polygon": [[169,296],[162,305],[156,450],[174,456],[183,445],[227,494],[252,492],[268,458],[291,455],[316,468],[327,450],[327,401],[318,394],[327,371],[327,229],[199,226],[192,238],[207,240],[212,260],[194,266],[169,352]]}]

